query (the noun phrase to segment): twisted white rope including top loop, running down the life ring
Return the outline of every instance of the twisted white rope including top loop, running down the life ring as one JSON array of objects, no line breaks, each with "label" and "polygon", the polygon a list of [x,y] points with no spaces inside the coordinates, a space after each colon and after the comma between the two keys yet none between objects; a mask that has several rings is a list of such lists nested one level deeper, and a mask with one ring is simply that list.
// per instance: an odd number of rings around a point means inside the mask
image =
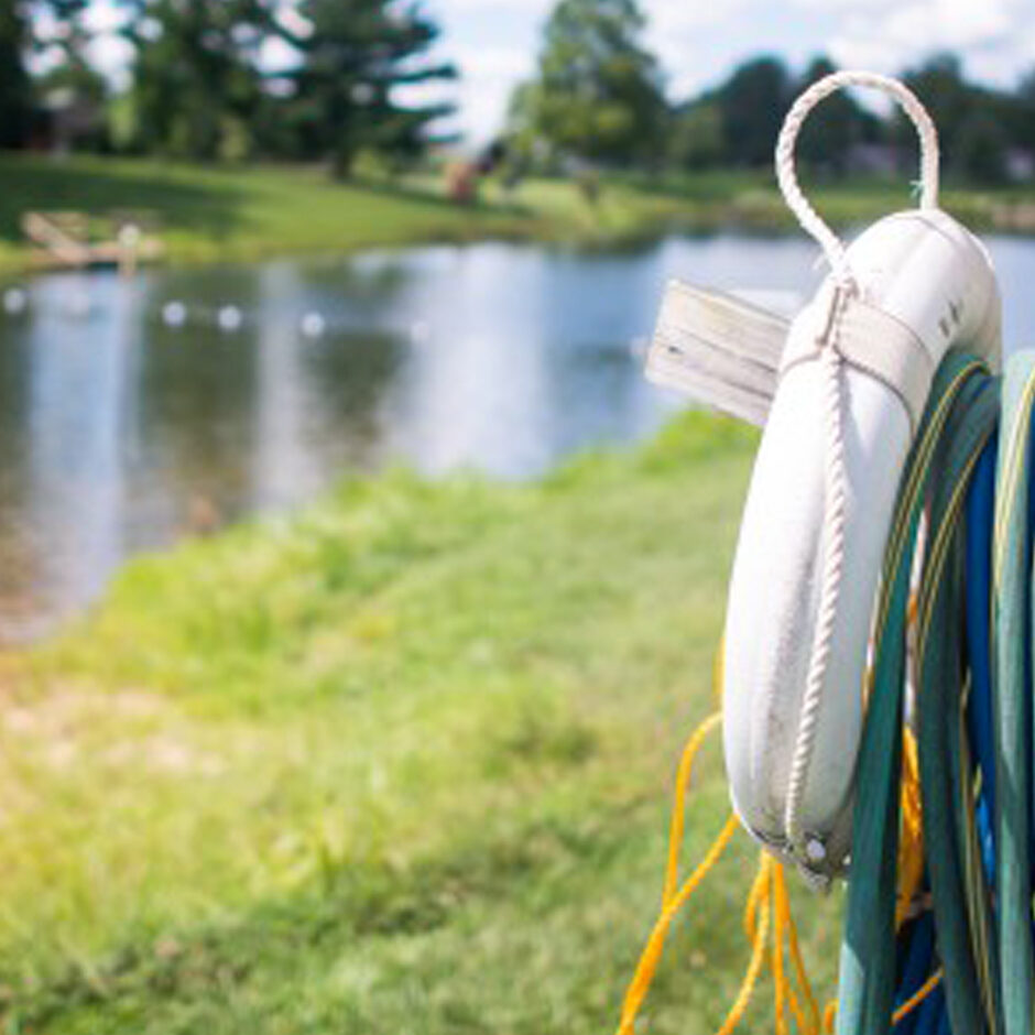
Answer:
[{"label": "twisted white rope including top loop, running down the life ring", "polygon": [[[811,870],[814,873],[815,868],[819,868],[826,859],[826,847],[818,840],[809,839],[808,831],[802,828],[800,814],[816,745],[819,707],[834,646],[834,627],[845,569],[848,476],[845,469],[841,400],[843,361],[837,342],[845,308],[850,304],[852,295],[857,293],[858,284],[852,275],[845,243],[816,213],[798,185],[794,166],[794,149],[809,112],[831,94],[849,86],[867,86],[881,90],[898,101],[905,110],[920,139],[920,207],[937,208],[938,206],[938,133],[930,116],[916,95],[902,83],[869,72],[838,72],[815,83],[795,101],[787,113],[776,143],[776,176],[791,210],[797,216],[802,227],[822,247],[830,262],[836,285],[828,329],[819,342],[824,373],[824,423],[827,436],[822,582],[784,811],[788,848],[806,871]],[[840,860],[835,860],[835,865],[839,863]]]}]

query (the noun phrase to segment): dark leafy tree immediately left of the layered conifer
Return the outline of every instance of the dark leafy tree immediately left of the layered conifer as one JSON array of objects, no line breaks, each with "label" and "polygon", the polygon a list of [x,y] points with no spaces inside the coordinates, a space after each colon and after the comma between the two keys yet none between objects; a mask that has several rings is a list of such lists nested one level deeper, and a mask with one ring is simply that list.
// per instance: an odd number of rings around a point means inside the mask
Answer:
[{"label": "dark leafy tree immediately left of the layered conifer", "polygon": [[121,0],[137,52],[132,106],[144,151],[243,156],[261,102],[259,47],[271,0]]}]

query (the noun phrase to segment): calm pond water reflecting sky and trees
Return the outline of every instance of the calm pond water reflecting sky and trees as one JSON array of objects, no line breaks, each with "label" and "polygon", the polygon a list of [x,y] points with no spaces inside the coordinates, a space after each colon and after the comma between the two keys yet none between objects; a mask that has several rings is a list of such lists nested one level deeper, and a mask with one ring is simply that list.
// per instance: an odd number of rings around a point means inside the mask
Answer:
[{"label": "calm pond water reflecting sky and trees", "polygon": [[[991,246],[1009,340],[1035,344],[1035,241]],[[40,277],[23,314],[0,315],[0,641],[81,610],[133,553],[346,470],[525,478],[642,439],[679,405],[638,355],[665,281],[804,293],[815,258],[796,239],[717,237]],[[163,323],[171,302],[183,328]],[[227,305],[233,333],[218,329]],[[319,336],[302,330],[313,313]]]}]

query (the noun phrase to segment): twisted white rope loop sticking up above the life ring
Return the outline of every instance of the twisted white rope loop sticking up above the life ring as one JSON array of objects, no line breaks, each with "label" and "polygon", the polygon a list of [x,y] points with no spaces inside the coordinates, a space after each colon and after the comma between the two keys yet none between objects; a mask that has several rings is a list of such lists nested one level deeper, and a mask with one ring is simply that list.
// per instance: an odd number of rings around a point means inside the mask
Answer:
[{"label": "twisted white rope loop sticking up above the life ring", "polygon": [[802,228],[814,237],[824,250],[834,277],[839,285],[854,291],[856,281],[848,264],[845,242],[813,208],[798,183],[794,151],[798,133],[813,109],[831,94],[851,86],[870,87],[886,94],[898,102],[909,117],[920,140],[920,208],[938,207],[939,151],[938,131],[919,98],[898,79],[873,72],[835,72],[814,83],[794,102],[787,112],[776,142],[776,178],[791,211]]}]

